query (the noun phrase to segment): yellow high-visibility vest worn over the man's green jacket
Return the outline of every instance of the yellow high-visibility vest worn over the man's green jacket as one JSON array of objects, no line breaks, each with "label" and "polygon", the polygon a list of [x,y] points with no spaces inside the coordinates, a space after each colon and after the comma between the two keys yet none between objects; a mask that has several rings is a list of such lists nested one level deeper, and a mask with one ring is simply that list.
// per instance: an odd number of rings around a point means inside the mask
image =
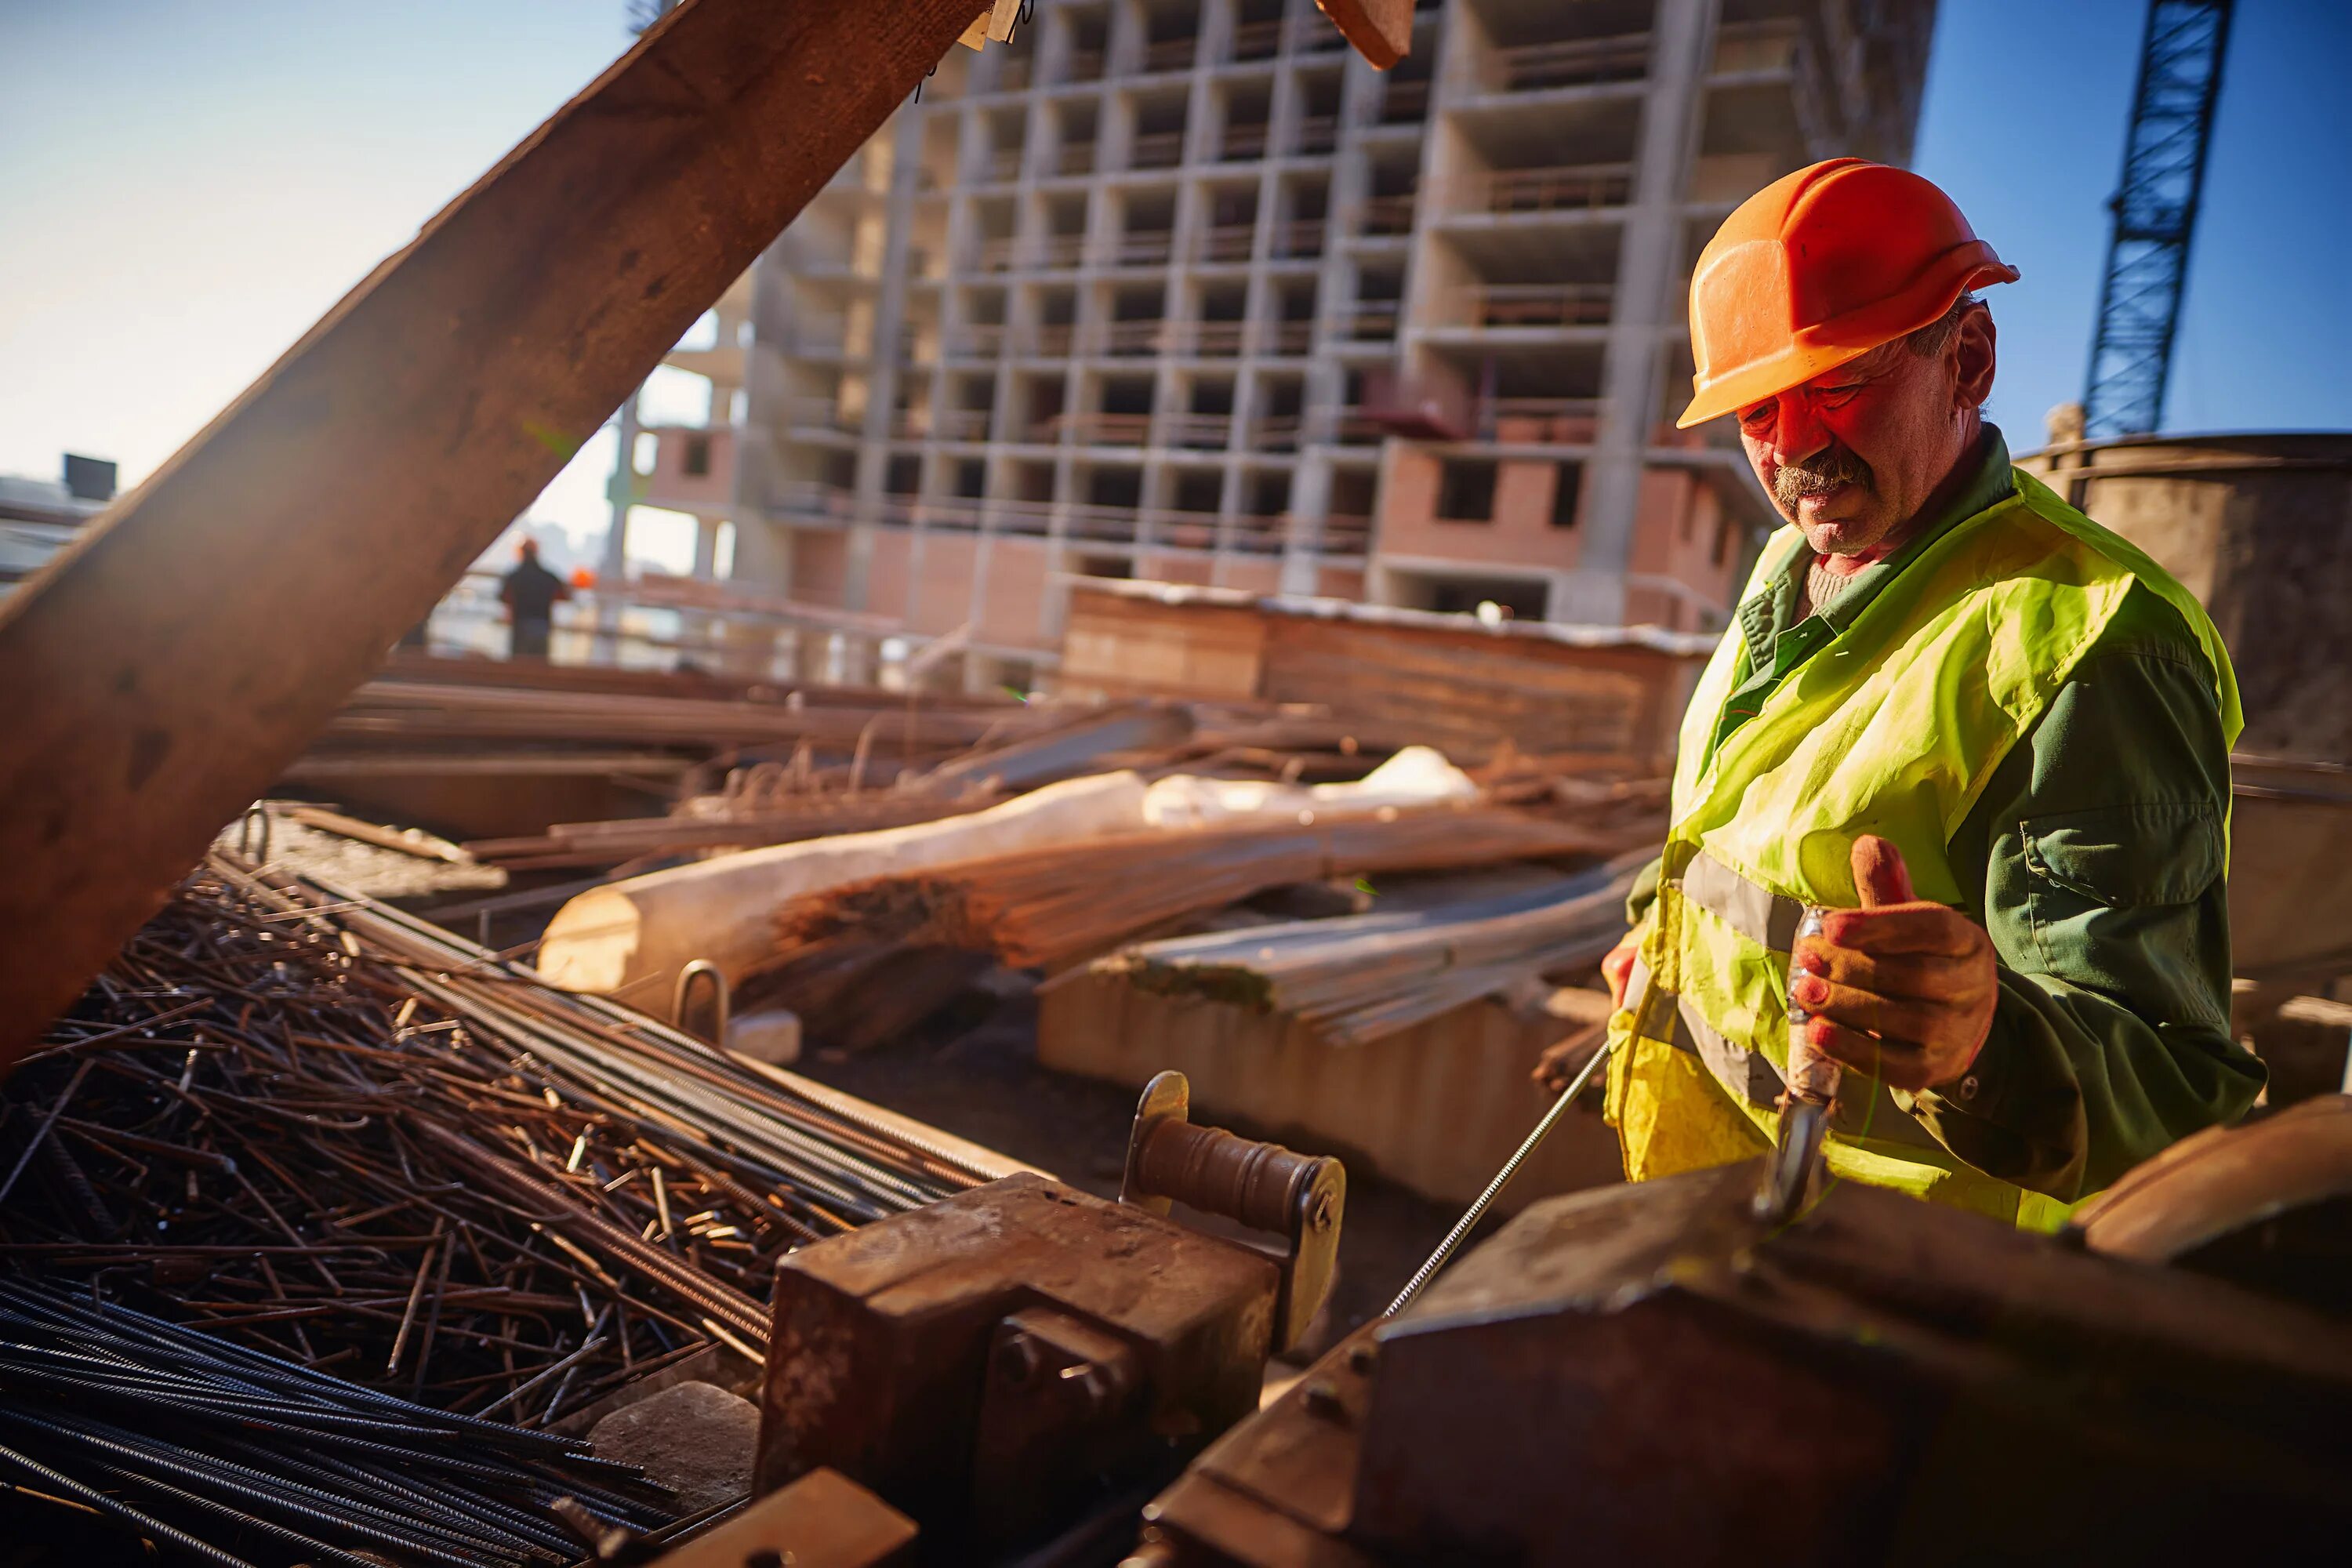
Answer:
[{"label": "yellow high-visibility vest worn over the man's green jacket", "polygon": [[[1658,898],[1611,1020],[1609,1119],[1625,1175],[1771,1147],[1788,1060],[1788,950],[1804,905],[1853,907],[1849,849],[1903,851],[1919,898],[1962,903],[1947,844],[2138,581],[2197,632],[2223,726],[2237,679],[2204,607],[2147,555],[2018,473],[2018,494],[1950,527],[1710,755],[1740,637],[1724,637],[1682,724]],[[1795,529],[1764,550],[1802,548]],[[1759,564],[1748,592],[1769,567]],[[1959,1161],[1910,1095],[1849,1072],[1832,1175],[2030,1227],[2067,1206]]]}]

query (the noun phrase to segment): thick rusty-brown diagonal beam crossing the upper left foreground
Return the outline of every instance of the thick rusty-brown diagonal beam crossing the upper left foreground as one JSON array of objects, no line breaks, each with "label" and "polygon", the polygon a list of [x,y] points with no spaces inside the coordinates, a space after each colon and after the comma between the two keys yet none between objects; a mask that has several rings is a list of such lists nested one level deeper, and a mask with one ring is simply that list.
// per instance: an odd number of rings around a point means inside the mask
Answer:
[{"label": "thick rusty-brown diagonal beam crossing the upper left foreground", "polygon": [[687,0],[0,604],[0,1070],[974,0]]}]

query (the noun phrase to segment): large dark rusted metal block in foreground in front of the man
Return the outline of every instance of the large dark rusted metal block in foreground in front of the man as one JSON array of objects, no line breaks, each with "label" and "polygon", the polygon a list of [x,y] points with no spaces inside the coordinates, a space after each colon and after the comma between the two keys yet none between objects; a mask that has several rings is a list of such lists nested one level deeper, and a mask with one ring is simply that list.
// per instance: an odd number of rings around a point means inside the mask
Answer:
[{"label": "large dark rusted metal block in foreground in front of the man", "polygon": [[1143,1563],[2340,1561],[2352,1326],[1757,1168],[1538,1204],[1145,1512]]}]

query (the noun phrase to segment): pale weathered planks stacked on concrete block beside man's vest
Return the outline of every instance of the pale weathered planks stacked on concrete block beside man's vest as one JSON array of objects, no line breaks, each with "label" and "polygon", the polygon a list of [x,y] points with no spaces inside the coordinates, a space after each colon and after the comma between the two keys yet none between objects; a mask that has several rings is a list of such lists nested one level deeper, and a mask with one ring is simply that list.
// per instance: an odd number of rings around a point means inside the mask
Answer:
[{"label": "pale weathered planks stacked on concrete block beside man's vest", "polygon": [[1625,933],[1625,893],[1649,853],[1428,910],[1162,938],[1068,976],[1120,976],[1150,992],[1287,1013],[1334,1046],[1359,1046],[1522,978],[1597,964]]}]

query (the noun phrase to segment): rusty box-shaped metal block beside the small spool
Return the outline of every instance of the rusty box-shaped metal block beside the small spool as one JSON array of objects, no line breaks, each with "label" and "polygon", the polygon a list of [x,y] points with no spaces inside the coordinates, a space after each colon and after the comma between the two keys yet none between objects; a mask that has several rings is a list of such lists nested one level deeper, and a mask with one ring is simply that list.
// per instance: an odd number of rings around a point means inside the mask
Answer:
[{"label": "rusty box-shaped metal block beside the small spool", "polygon": [[1258,1406],[1277,1265],[1011,1175],[793,1253],[753,1488],[821,1465],[934,1540],[1007,1542]]}]

